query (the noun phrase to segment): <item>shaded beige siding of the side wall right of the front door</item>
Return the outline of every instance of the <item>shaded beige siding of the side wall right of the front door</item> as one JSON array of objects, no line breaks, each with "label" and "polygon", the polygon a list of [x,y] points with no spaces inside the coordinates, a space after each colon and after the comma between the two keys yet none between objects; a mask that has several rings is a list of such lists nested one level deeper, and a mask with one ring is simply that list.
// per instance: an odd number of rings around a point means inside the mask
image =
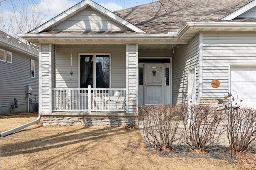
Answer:
[{"label": "shaded beige siding of the side wall right of the front door", "polygon": [[187,45],[178,45],[173,54],[173,104],[187,103],[188,69],[196,67],[196,102],[198,102],[198,66],[199,35],[192,38]]}]

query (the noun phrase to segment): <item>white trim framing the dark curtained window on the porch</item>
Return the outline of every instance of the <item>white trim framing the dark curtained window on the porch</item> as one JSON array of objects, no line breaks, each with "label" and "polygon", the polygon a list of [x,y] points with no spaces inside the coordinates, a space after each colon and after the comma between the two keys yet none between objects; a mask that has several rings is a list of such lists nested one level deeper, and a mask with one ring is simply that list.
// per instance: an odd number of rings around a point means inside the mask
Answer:
[{"label": "white trim framing the dark curtained window on the porch", "polygon": [[[112,64],[111,64],[111,53],[78,53],[78,88],[80,88],[80,55],[93,55],[93,61],[96,61],[96,55],[109,55],[109,88],[112,87]],[[93,71],[96,72],[96,63]],[[93,80],[93,84],[96,84],[96,79]]]}]

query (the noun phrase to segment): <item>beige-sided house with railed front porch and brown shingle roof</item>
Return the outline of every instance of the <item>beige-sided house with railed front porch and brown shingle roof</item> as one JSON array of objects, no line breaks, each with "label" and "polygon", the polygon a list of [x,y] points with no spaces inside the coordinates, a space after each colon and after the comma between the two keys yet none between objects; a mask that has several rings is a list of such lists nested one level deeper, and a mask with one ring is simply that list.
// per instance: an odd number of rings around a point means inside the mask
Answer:
[{"label": "beige-sided house with railed front porch and brown shingle roof", "polygon": [[256,106],[256,0],[83,0],[20,36],[39,46],[44,126],[127,125],[147,104]]}]

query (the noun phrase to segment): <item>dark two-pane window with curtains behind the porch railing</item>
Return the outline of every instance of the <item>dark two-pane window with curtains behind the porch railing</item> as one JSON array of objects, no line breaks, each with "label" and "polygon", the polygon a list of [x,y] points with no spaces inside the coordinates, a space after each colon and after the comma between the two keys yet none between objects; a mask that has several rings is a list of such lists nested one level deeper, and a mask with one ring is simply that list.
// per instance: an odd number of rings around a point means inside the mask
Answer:
[{"label": "dark two-pane window with curtains behind the porch railing", "polygon": [[110,55],[80,55],[80,88],[110,88]]}]

